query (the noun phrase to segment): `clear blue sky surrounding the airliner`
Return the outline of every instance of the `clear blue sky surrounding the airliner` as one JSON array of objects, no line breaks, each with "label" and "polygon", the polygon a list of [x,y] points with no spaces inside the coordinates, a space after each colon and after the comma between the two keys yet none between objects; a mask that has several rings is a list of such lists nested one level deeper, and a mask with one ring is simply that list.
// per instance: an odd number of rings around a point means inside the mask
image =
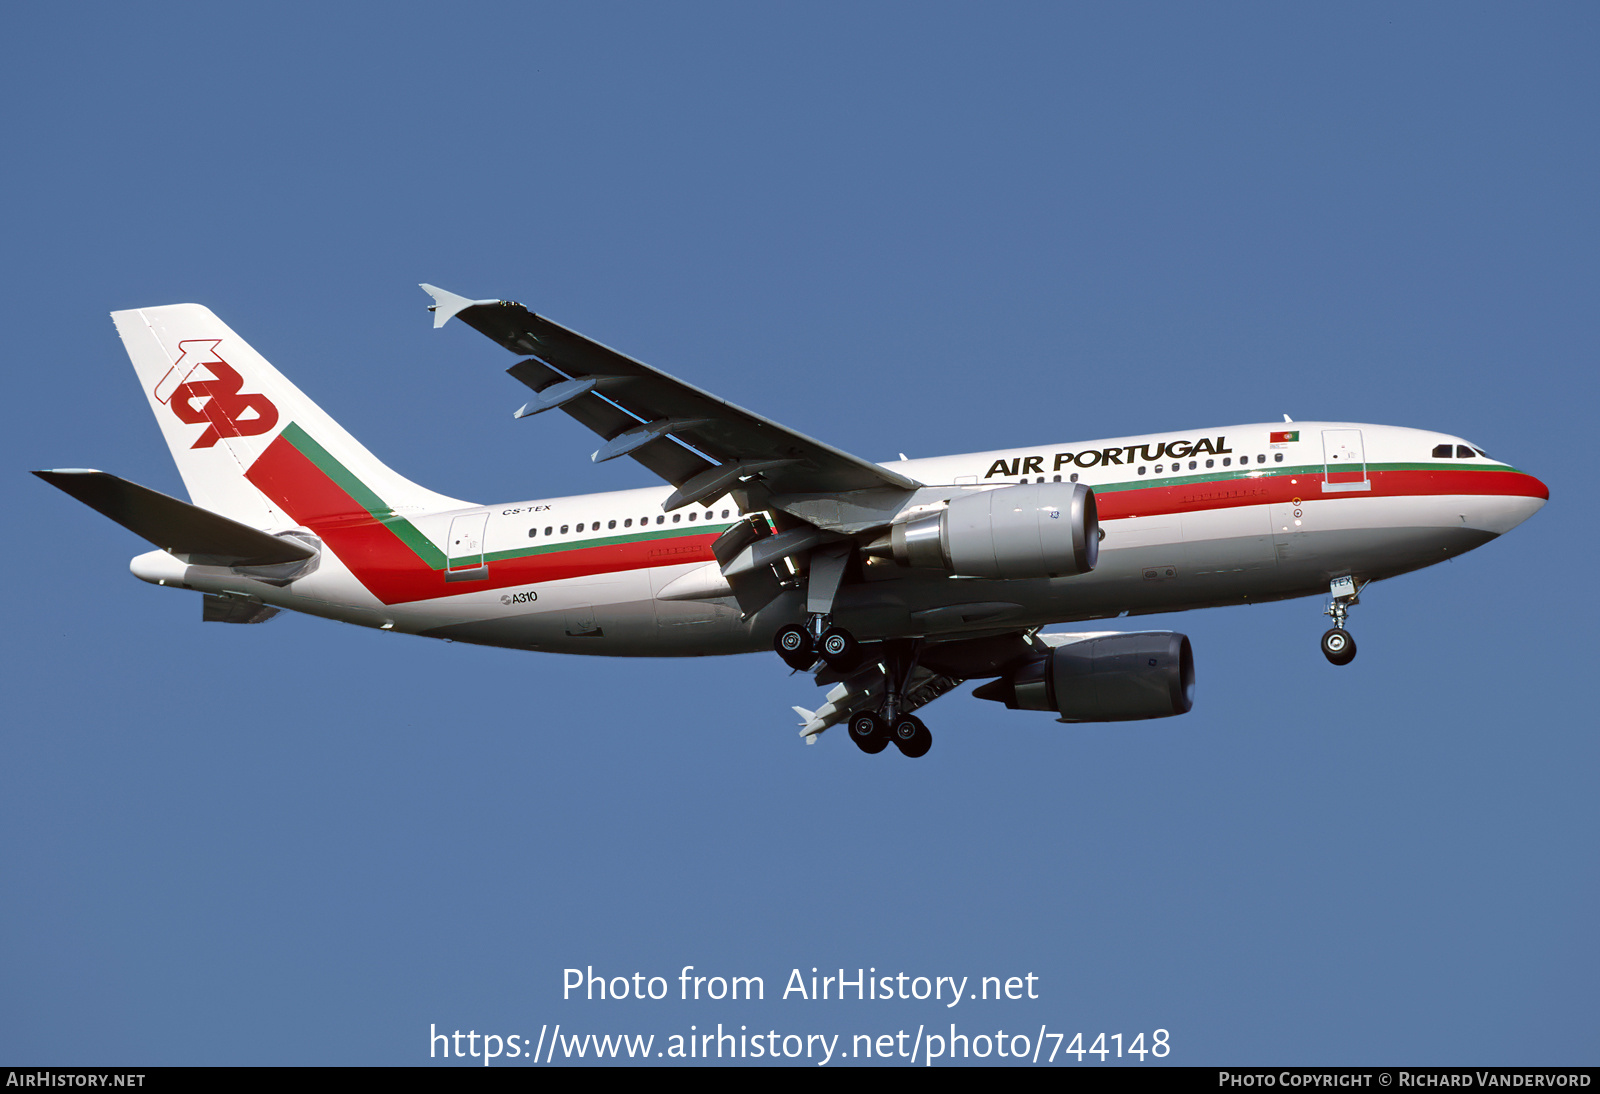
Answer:
[{"label": "clear blue sky surrounding the airliner", "polygon": [[[1182,1064],[1597,1060],[1589,5],[34,6],[0,181],[0,1059],[414,1064],[427,1028],[1170,1030]],[[1149,621],[1182,718],[813,749],[776,656],[202,627],[26,475],[178,475],[107,312],[216,310],[446,494],[650,485],[418,281],[874,459],[1251,421],[1539,475],[1502,541]],[[562,969],[763,976],[562,1001]],[[792,968],[1022,976],[824,1004]],[[976,982],[976,980],[974,980]],[[675,980],[674,980],[675,984]],[[962,1014],[960,1011],[966,1011]],[[966,1025],[971,1025],[971,1030]],[[1093,1059],[1093,1057],[1091,1057]]]}]

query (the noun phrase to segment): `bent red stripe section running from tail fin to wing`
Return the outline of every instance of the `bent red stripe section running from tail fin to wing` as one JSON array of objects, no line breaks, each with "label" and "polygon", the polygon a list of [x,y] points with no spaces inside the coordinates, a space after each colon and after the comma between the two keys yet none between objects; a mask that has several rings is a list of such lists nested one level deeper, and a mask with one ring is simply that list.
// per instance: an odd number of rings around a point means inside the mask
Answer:
[{"label": "bent red stripe section running from tail fin to wing", "polygon": [[710,544],[717,539],[715,533],[674,536],[491,560],[486,577],[446,582],[443,571],[418,558],[387,525],[368,513],[282,437],[267,446],[245,477],[294,523],[317,533],[355,579],[386,605],[563,577],[710,561]]}]

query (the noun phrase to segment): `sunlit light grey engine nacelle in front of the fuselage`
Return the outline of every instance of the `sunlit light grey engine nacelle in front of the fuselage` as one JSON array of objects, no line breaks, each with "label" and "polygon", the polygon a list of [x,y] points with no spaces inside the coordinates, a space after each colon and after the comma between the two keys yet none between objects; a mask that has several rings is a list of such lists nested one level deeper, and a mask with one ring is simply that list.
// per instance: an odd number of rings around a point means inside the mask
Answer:
[{"label": "sunlit light grey engine nacelle in front of the fuselage", "polygon": [[1070,577],[1099,560],[1094,491],[1027,483],[963,493],[890,529],[894,561],[963,577]]}]

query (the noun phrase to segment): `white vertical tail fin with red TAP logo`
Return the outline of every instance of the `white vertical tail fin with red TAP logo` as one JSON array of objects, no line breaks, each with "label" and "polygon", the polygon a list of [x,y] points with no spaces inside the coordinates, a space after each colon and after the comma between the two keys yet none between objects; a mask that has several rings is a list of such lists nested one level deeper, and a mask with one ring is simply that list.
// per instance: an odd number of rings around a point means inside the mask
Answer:
[{"label": "white vertical tail fin with red TAP logo", "polygon": [[194,504],[256,528],[467,505],[386,467],[210,309],[112,320]]}]

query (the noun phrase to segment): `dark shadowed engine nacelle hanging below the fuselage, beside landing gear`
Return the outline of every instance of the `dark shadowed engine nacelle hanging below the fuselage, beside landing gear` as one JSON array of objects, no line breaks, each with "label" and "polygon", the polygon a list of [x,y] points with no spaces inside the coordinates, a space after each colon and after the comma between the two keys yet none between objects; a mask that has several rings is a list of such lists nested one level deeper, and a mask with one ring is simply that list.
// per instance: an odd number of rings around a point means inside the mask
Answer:
[{"label": "dark shadowed engine nacelle hanging below the fuselage, beside landing gear", "polygon": [[1013,710],[1054,710],[1062,721],[1168,718],[1187,713],[1194,694],[1194,651],[1171,630],[1086,635],[973,691]]}]

